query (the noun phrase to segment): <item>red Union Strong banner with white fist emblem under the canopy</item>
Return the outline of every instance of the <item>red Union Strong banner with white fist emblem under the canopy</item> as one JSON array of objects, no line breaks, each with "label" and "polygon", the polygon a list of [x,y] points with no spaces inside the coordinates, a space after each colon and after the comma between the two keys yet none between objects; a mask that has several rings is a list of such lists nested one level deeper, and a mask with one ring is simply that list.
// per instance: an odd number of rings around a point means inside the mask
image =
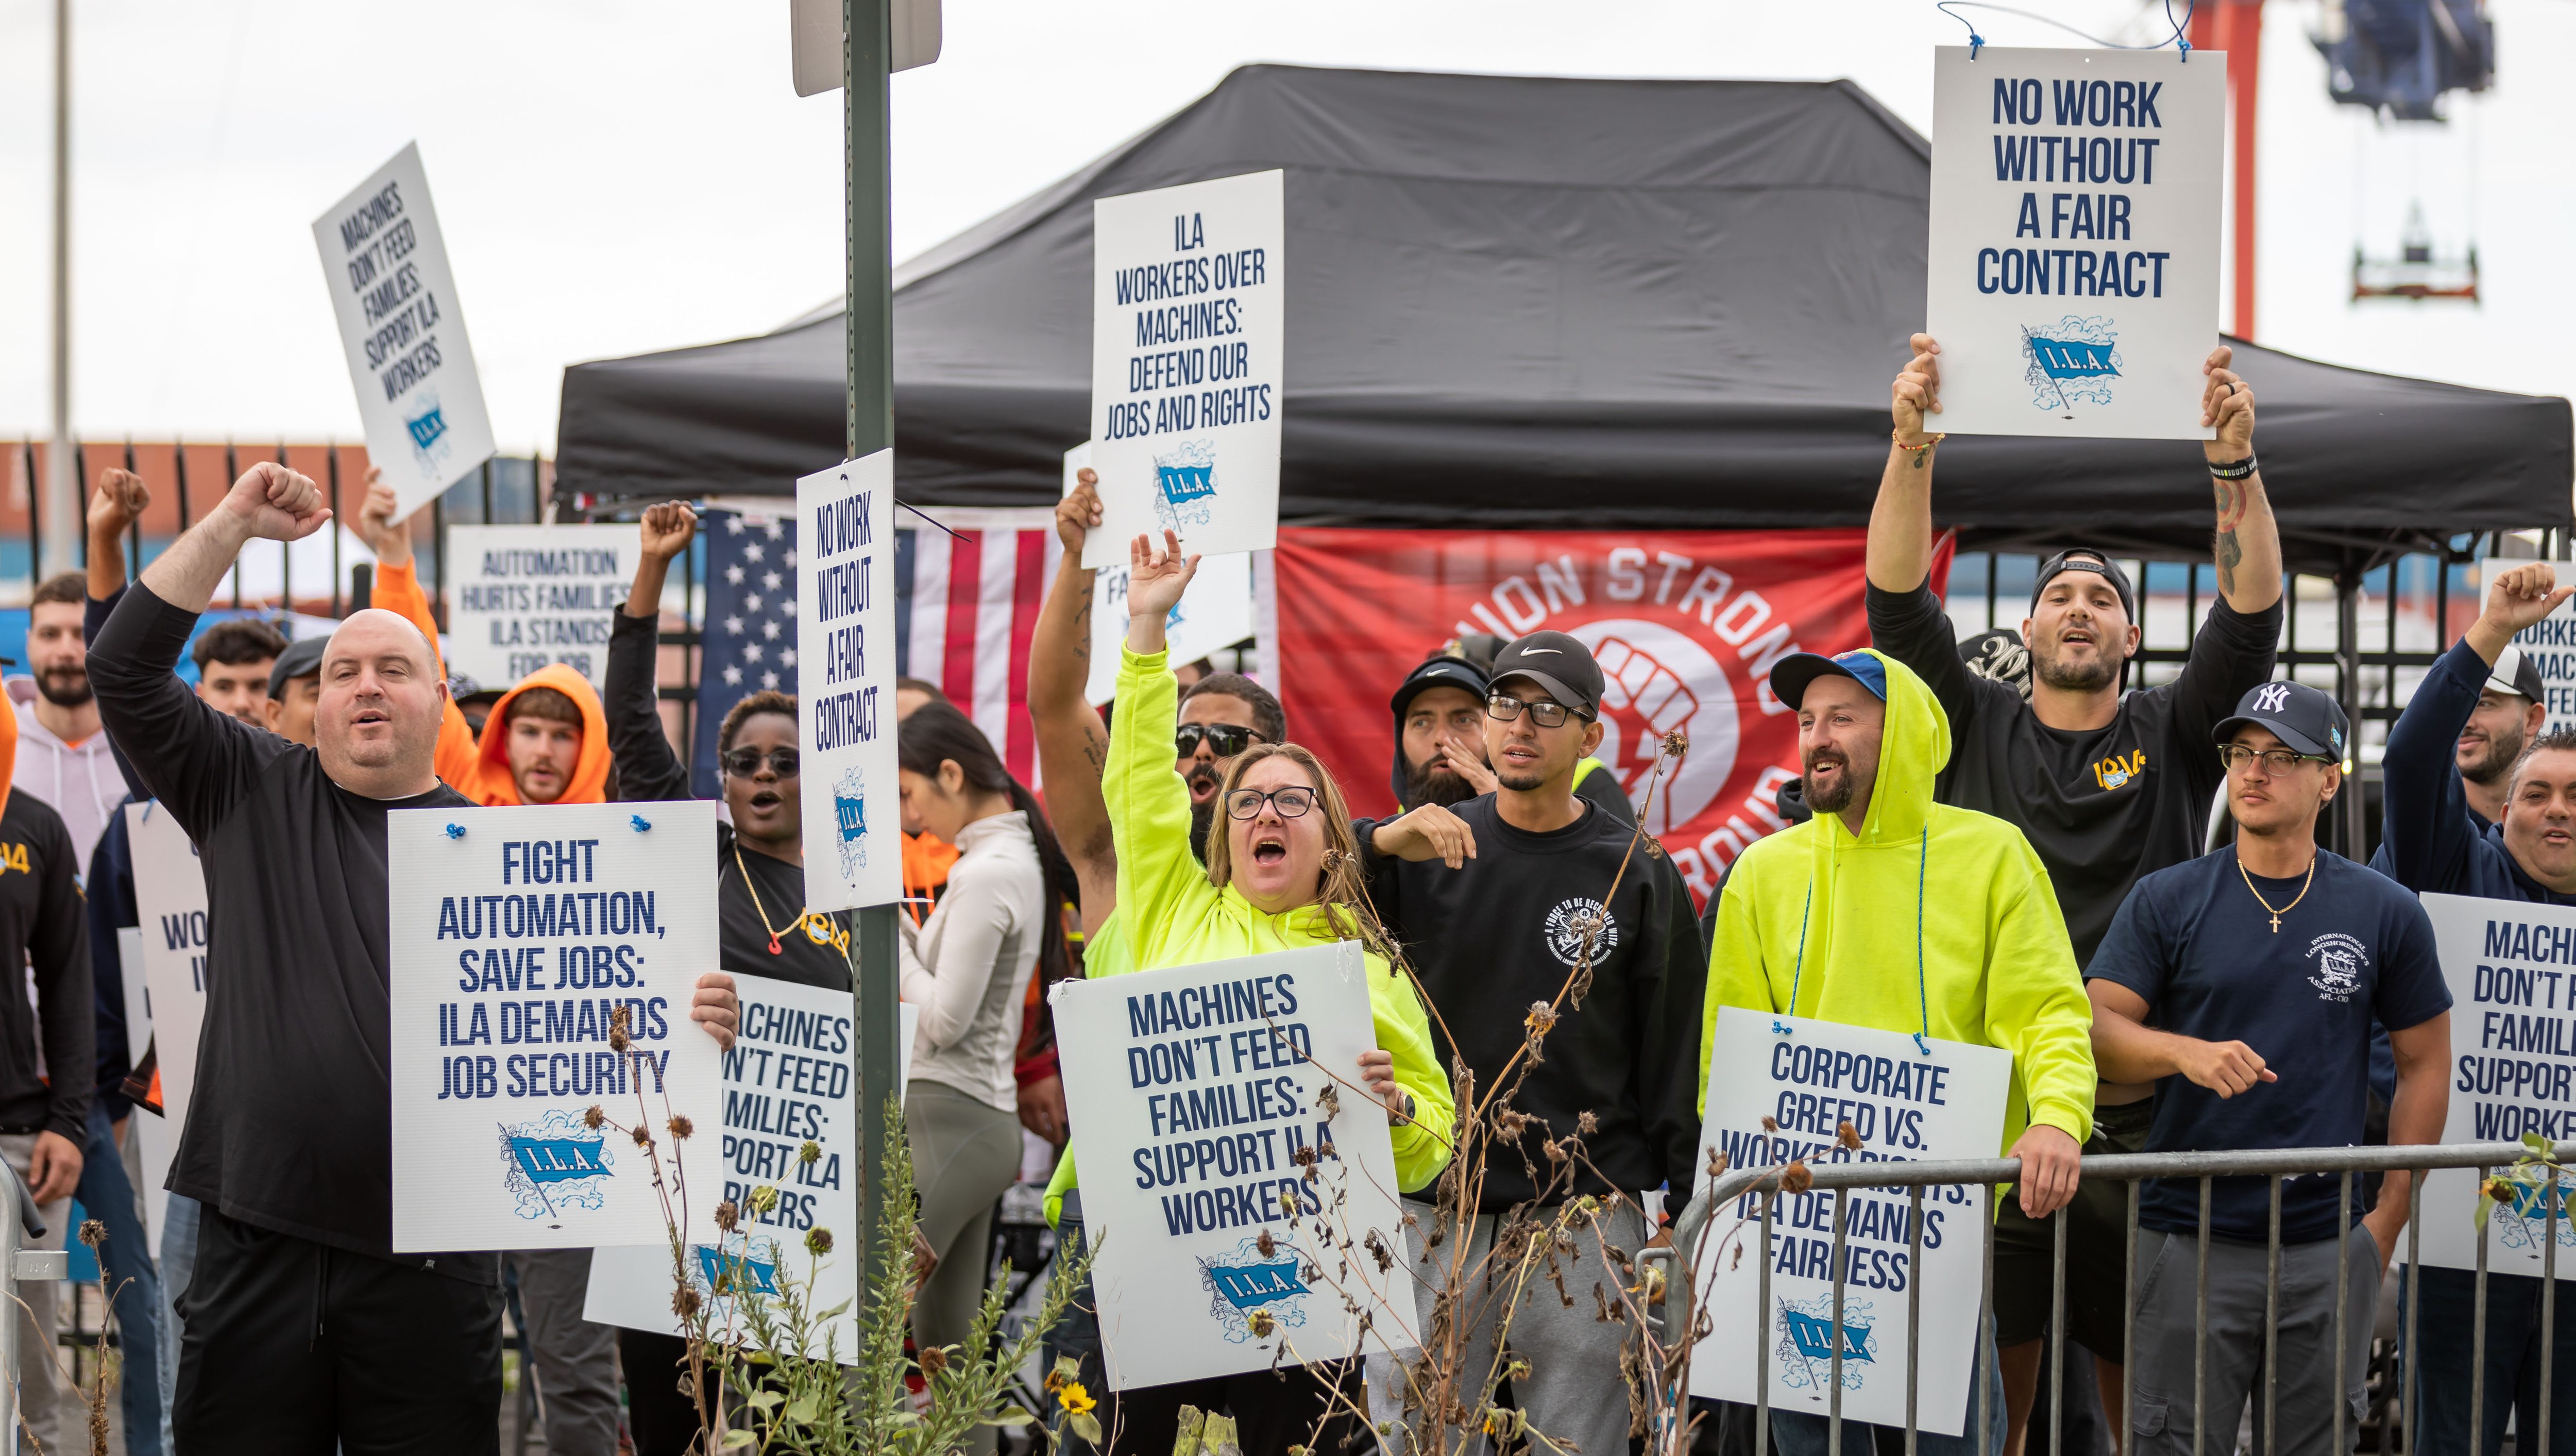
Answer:
[{"label": "red Union Strong banner with white fist emblem under the canopy", "polygon": [[[1780,830],[1798,719],[1767,683],[1788,652],[1868,647],[1862,531],[1340,531],[1278,541],[1288,734],[1332,765],[1355,814],[1394,809],[1396,683],[1443,642],[1566,631],[1602,665],[1600,758],[1646,796],[1654,742],[1690,758],[1646,832],[1703,899]],[[1947,577],[1950,546],[1935,562]]]}]

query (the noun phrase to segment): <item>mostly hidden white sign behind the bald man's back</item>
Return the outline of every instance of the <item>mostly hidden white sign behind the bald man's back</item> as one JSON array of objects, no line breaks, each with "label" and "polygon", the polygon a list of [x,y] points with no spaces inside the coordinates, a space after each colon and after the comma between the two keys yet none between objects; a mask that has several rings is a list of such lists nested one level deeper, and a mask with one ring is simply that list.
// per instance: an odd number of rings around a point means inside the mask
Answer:
[{"label": "mostly hidden white sign behind the bald man's back", "polygon": [[196,1095],[196,1044],[206,1028],[206,874],[196,845],[157,801],[126,804],[134,850],[134,917],[142,925],[144,995],[152,1008],[152,1064],[160,1067],[162,1116],[137,1129],[144,1154],[149,1240],[160,1255],[162,1185],[188,1129]]}]

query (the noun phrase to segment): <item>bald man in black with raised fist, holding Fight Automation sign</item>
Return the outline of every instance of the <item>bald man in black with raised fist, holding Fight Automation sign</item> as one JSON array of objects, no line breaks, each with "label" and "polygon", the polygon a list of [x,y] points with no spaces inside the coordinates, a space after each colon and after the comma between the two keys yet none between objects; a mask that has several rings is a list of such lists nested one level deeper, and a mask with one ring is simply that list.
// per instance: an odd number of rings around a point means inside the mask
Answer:
[{"label": "bald man in black with raised fist, holding Fight Automation sign", "polygon": [[[126,590],[90,652],[116,742],[201,850],[198,1090],[170,1185],[198,1198],[180,1451],[500,1448],[495,1255],[392,1250],[386,812],[466,807],[433,771],[446,683],[420,631],[353,613],[322,657],[314,747],[204,704],[170,667],[245,544],[330,521],[258,464]],[[732,977],[690,1018],[734,1028]]]}]

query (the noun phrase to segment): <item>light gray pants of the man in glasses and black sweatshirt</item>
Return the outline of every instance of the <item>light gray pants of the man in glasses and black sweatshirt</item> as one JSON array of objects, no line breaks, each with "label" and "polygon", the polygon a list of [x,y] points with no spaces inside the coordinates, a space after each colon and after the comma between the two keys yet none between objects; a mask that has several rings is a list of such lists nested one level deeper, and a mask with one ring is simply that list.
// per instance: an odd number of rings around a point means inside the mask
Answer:
[{"label": "light gray pants of the man in glasses and black sweatshirt", "polygon": [[[1504,1322],[1510,1309],[1510,1335],[1507,1348],[1512,1355],[1530,1363],[1530,1371],[1512,1376],[1512,1404],[1530,1417],[1530,1430],[1546,1435],[1548,1441],[1571,1451],[1625,1451],[1628,1448],[1628,1384],[1620,1376],[1618,1358],[1628,1340],[1636,1335],[1636,1325],[1625,1319],[1605,1322],[1600,1317],[1600,1304],[1592,1299],[1592,1286],[1600,1283],[1602,1294],[1618,1304],[1618,1288],[1602,1273],[1602,1240],[1613,1247],[1636,1252],[1646,1242],[1646,1219],[1636,1206],[1620,1206],[1615,1214],[1605,1214],[1589,1229],[1574,1234],[1574,1252],[1556,1255],[1556,1273],[1566,1283],[1566,1307],[1556,1294],[1556,1281],[1548,1278],[1548,1263],[1540,1263],[1533,1276],[1522,1283],[1517,1307],[1510,1299],[1510,1283],[1502,1278],[1507,1268],[1489,1263],[1494,1252],[1494,1214],[1481,1214],[1468,1234],[1466,1263],[1455,1265],[1455,1245],[1443,1242],[1422,1252],[1422,1234],[1440,1224],[1440,1209],[1430,1203],[1404,1201],[1404,1211],[1414,1216],[1414,1227],[1406,1229],[1409,1263],[1414,1273],[1414,1332],[1430,1340],[1432,1307],[1437,1301],[1440,1283],[1448,1278],[1450,1268],[1466,1268],[1466,1288],[1461,1288],[1458,1317],[1466,1325],[1466,1337],[1461,1340],[1461,1366],[1458,1386],[1461,1397],[1471,1389],[1481,1389],[1486,1371],[1494,1368],[1494,1332]],[[1540,1211],[1546,1214],[1546,1211]],[[1455,1232],[1455,1229],[1453,1229]],[[1494,1273],[1486,1283],[1484,1273]],[[1422,1355],[1404,1355],[1406,1363]],[[1394,1358],[1370,1355],[1368,1358],[1368,1415],[1373,1422],[1399,1420],[1399,1407],[1404,1399],[1404,1376],[1396,1371]],[[1419,1415],[1414,1417],[1419,1420]],[[1448,1433],[1455,1435],[1455,1433]],[[1445,1448],[1445,1441],[1425,1441],[1425,1448]]]}]

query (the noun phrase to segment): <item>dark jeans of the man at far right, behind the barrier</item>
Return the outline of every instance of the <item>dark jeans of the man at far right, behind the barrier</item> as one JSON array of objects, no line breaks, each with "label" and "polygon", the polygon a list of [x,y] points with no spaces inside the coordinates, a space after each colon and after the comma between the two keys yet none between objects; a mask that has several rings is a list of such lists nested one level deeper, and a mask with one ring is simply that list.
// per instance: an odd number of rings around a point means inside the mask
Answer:
[{"label": "dark jeans of the man at far right, behind the barrier", "polygon": [[[2476,1337],[2478,1276],[2465,1268],[2416,1270],[2424,1309],[2416,1312],[2416,1430],[2409,1451],[2421,1456],[2468,1456],[2468,1376]],[[2398,1330],[2406,1330],[2406,1294],[2398,1294]],[[2504,1417],[2514,1417],[2514,1451],[2535,1451],[2540,1441],[2543,1389],[2558,1392],[2550,1407],[2550,1448],[2545,1456],[2576,1456],[2576,1288],[2558,1288],[2558,1335],[2550,1345],[2550,1374],[2540,1368],[2540,1281],[2527,1273],[2486,1276],[2486,1415],[2478,1448],[2494,1456],[2504,1441]]]}]

